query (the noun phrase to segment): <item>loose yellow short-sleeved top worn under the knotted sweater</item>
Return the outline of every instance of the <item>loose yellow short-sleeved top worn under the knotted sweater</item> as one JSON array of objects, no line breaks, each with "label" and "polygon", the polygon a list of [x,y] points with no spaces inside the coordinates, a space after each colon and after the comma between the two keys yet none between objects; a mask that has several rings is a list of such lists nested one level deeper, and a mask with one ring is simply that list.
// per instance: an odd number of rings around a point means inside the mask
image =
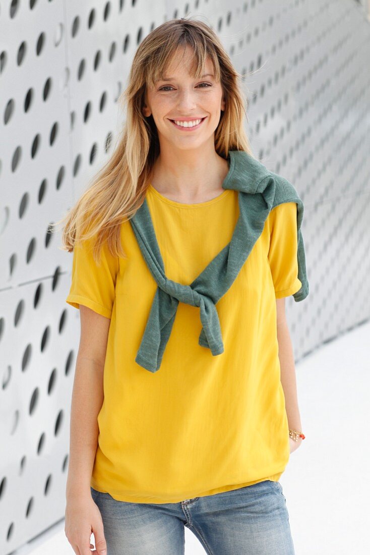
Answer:
[{"label": "loose yellow short-sleeved top worn under the knotted sweater", "polygon": [[[231,240],[238,193],[184,204],[146,194],[168,279],[189,285]],[[278,481],[290,457],[276,297],[301,288],[297,205],[273,208],[239,275],[217,302],[224,352],[198,344],[199,307],[179,302],[157,372],[135,362],[157,284],[129,222],[127,259],[94,263],[75,247],[66,301],[111,319],[91,486],[119,501],[176,503]]]}]

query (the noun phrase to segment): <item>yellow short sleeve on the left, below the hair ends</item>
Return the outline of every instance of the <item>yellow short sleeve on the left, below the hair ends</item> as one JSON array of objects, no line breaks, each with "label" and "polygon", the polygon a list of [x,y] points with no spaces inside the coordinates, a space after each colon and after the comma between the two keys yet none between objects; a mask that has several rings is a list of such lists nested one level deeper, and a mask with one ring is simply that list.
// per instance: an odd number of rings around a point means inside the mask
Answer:
[{"label": "yellow short sleeve on the left, below the hair ends", "polygon": [[65,302],[79,305],[111,317],[115,299],[115,282],[119,269],[118,257],[112,256],[107,244],[100,252],[99,264],[93,258],[93,239],[75,244],[72,261],[72,283]]}]

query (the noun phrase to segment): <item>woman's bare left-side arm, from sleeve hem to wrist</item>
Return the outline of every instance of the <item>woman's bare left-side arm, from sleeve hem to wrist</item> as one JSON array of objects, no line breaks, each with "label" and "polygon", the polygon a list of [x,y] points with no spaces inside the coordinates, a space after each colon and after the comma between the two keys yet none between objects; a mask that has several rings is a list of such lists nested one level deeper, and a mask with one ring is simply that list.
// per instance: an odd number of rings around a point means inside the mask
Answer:
[{"label": "woman's bare left-side arm, from sleeve hem to wrist", "polygon": [[80,344],[70,410],[69,465],[65,497],[90,495],[98,414],[103,404],[103,371],[110,319],[80,305]]}]

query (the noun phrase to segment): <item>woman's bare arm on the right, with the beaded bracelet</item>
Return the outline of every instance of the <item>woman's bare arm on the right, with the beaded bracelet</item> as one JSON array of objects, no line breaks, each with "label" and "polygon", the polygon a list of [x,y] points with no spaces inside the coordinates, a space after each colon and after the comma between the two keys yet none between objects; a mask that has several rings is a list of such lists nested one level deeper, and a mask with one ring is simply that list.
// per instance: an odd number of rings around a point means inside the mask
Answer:
[{"label": "woman's bare arm on the right, with the beaded bracelet", "polygon": [[[285,396],[285,407],[288,417],[288,425],[293,430],[302,430],[300,410],[298,408],[296,369],[290,332],[285,314],[285,297],[276,299],[277,314],[277,341],[279,345],[279,360],[281,370],[281,384]],[[297,446],[302,442],[293,441]]]}]

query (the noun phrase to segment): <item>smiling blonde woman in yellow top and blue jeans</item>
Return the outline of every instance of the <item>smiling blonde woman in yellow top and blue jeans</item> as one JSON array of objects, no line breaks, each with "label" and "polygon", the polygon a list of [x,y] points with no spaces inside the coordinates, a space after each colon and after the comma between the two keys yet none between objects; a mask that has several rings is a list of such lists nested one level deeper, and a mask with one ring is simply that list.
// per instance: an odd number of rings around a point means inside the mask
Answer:
[{"label": "smiling blonde woman in yellow top and blue jeans", "polygon": [[99,555],[184,553],[184,526],[207,553],[294,553],[278,480],[304,437],[285,319],[308,295],[303,206],[252,156],[239,79],[206,24],[154,29],[123,136],[68,214],[80,555],[92,532]]}]

